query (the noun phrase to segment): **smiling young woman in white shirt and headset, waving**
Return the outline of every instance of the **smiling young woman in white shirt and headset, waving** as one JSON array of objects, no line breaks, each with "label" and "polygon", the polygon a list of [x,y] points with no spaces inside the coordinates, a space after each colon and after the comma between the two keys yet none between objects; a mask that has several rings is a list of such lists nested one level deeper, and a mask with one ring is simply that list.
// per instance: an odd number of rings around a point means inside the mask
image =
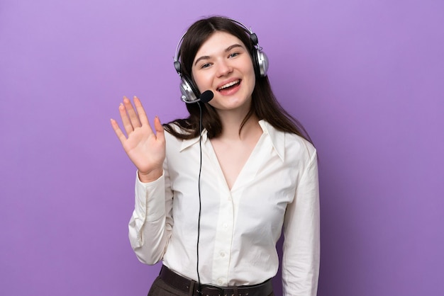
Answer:
[{"label": "smiling young woman in white shirt and headset, waving", "polygon": [[256,36],[211,17],[179,45],[189,117],[156,117],[152,129],[139,99],[124,98],[127,136],[111,120],[138,169],[131,246],[140,261],[163,262],[149,295],[274,295],[282,229],[284,295],[316,295],[316,149],[274,98]]}]

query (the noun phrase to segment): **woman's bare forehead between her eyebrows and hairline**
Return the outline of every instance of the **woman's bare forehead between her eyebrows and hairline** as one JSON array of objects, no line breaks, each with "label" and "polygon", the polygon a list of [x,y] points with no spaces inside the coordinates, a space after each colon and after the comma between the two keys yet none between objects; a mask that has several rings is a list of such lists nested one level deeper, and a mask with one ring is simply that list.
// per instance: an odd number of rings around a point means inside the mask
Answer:
[{"label": "woman's bare forehead between her eyebrows and hairline", "polygon": [[196,56],[194,60],[198,59],[201,56],[212,56],[217,55],[218,53],[224,52],[231,45],[241,45],[245,48],[243,42],[235,37],[235,35],[231,35],[230,33],[217,31],[213,33],[199,48],[196,52]]}]

